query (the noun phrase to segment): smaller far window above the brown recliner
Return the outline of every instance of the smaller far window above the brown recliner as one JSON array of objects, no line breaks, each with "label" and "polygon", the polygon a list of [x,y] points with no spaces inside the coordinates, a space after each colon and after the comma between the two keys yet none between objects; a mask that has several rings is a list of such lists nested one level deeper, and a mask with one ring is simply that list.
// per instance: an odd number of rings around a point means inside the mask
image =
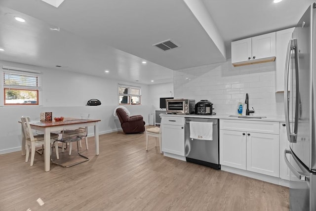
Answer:
[{"label": "smaller far window above the brown recliner", "polygon": [[118,84],[118,104],[139,105],[140,87]]}]

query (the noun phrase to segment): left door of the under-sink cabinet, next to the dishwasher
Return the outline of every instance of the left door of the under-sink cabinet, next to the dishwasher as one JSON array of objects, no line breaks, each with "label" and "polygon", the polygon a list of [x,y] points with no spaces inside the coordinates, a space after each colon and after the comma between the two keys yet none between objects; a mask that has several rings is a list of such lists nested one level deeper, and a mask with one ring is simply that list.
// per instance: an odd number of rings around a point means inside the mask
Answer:
[{"label": "left door of the under-sink cabinet, next to the dishwasher", "polygon": [[220,153],[221,165],[246,169],[246,135],[245,132],[233,130],[220,130]]}]

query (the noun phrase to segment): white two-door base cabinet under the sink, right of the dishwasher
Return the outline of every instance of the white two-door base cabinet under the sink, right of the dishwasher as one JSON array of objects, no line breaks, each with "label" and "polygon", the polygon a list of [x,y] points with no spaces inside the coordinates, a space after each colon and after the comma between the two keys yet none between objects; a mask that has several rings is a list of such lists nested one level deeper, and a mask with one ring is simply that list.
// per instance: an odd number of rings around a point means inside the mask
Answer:
[{"label": "white two-door base cabinet under the sink, right of the dishwasher", "polygon": [[220,164],[279,177],[279,123],[220,120]]}]

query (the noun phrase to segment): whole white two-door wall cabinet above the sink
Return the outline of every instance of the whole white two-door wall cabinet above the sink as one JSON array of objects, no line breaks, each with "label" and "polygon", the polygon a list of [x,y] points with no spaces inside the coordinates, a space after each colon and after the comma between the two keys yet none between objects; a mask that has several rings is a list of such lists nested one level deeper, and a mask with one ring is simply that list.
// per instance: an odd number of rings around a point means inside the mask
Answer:
[{"label": "whole white two-door wall cabinet above the sink", "polygon": [[276,32],[232,42],[232,64],[237,66],[276,59]]}]

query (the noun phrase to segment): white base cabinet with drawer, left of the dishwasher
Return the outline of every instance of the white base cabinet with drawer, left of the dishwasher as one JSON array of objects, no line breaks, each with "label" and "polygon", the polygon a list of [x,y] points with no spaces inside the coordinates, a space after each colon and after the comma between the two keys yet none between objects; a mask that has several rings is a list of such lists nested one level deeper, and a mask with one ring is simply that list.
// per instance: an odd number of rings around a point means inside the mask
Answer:
[{"label": "white base cabinet with drawer, left of the dishwasher", "polygon": [[184,156],[184,118],[162,117],[160,129],[162,152]]}]

